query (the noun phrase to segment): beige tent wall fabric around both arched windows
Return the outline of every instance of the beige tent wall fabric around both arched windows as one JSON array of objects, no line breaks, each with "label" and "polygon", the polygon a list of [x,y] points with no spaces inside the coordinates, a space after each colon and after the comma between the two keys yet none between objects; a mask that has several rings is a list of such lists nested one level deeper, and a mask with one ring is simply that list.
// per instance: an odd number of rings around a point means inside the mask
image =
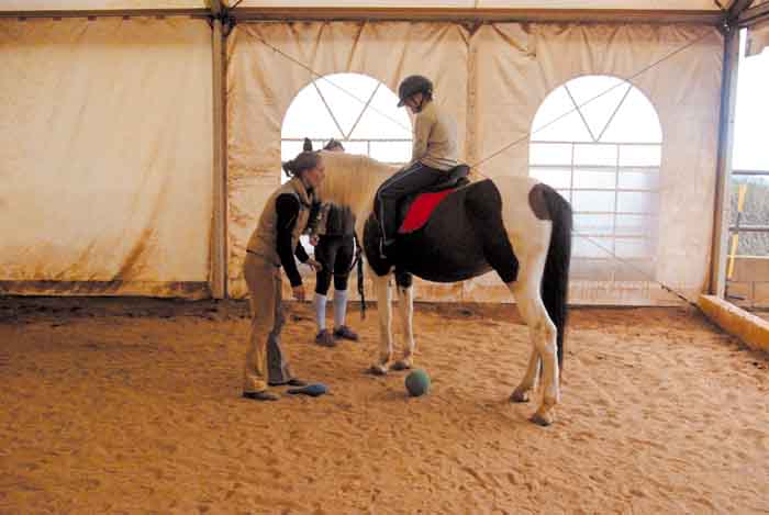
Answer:
[{"label": "beige tent wall fabric around both arched windows", "polygon": [[[478,163],[526,141],[547,94],[582,75],[631,78],[662,126],[659,248],[656,278],[695,295],[706,283],[717,154],[723,37],[714,27],[616,24],[486,24],[470,34],[454,23],[239,23],[229,40],[229,283],[244,288],[245,243],[265,199],[280,180],[281,122],[311,74],[354,71],[395,89],[421,71],[436,80],[436,101],[458,121],[462,158]],[[408,52],[404,52],[408,48]],[[469,89],[466,89],[469,88]],[[493,114],[492,114],[493,113]],[[259,120],[259,123],[254,123]],[[528,145],[481,166],[488,176],[528,173]],[[575,302],[678,302],[648,281],[598,283],[576,278]],[[458,284],[420,283],[420,299],[510,301],[493,275]]]}]

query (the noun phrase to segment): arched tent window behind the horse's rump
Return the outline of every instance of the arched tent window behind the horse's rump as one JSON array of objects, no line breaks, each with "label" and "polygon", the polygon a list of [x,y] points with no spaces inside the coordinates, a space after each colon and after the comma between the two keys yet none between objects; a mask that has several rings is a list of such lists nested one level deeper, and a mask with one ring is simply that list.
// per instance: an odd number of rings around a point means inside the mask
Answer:
[{"label": "arched tent window behind the horse's rump", "polygon": [[530,175],[571,202],[576,278],[654,276],[661,146],[656,110],[637,88],[615,77],[576,78],[539,107]]}]

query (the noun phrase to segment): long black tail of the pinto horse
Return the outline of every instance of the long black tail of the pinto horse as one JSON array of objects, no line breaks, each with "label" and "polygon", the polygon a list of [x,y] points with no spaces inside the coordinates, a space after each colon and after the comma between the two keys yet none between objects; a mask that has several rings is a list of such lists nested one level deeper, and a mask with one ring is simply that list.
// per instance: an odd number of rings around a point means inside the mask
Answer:
[{"label": "long black tail of the pinto horse", "polygon": [[553,221],[550,246],[547,249],[545,272],[542,278],[542,300],[556,325],[558,366],[564,367],[564,340],[569,293],[569,262],[571,261],[571,205],[553,188],[544,188],[545,202]]}]

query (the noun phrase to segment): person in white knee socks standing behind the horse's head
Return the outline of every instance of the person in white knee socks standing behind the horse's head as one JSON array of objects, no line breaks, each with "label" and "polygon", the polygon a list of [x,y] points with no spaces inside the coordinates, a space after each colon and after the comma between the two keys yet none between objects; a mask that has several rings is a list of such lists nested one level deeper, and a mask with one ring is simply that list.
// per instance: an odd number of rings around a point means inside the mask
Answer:
[{"label": "person in white knee socks standing behind the horse's head", "polygon": [[[311,150],[312,143],[304,141],[304,149]],[[331,139],[323,147],[330,152],[345,152],[341,142]],[[334,347],[336,339],[358,340],[358,335],[345,325],[347,314],[347,282],[355,257],[355,215],[349,208],[326,204],[322,209],[321,220],[315,228],[317,245],[315,258],[323,267],[315,278],[315,323],[317,335],[315,343]],[[334,332],[326,328],[326,300],[331,277],[334,276]]]}]

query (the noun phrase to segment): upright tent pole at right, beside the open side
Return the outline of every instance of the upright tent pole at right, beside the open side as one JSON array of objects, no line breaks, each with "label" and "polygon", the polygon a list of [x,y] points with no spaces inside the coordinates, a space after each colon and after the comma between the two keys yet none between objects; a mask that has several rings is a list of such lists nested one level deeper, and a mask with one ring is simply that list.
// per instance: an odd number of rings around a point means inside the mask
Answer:
[{"label": "upright tent pole at right, beside the open side", "polygon": [[732,186],[732,150],[734,114],[739,70],[739,30],[731,25],[724,35],[724,68],[721,80],[721,116],[718,121],[718,160],[716,164],[715,204],[709,291],[723,298],[726,291],[726,249],[729,235],[729,200]]}]

